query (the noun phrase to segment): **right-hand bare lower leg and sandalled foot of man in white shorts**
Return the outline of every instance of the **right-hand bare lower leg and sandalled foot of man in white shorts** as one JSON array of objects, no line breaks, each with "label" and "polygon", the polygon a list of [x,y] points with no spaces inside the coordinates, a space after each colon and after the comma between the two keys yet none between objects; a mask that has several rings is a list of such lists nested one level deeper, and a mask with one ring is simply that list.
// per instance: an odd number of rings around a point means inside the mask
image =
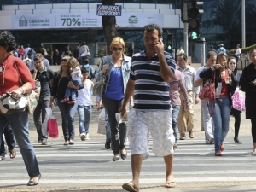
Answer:
[{"label": "right-hand bare lower leg and sandalled foot of man in white shorts", "polygon": [[164,160],[166,163],[166,188],[173,188],[176,186],[176,183],[174,182],[174,176],[172,173],[173,154],[164,156]]}]

